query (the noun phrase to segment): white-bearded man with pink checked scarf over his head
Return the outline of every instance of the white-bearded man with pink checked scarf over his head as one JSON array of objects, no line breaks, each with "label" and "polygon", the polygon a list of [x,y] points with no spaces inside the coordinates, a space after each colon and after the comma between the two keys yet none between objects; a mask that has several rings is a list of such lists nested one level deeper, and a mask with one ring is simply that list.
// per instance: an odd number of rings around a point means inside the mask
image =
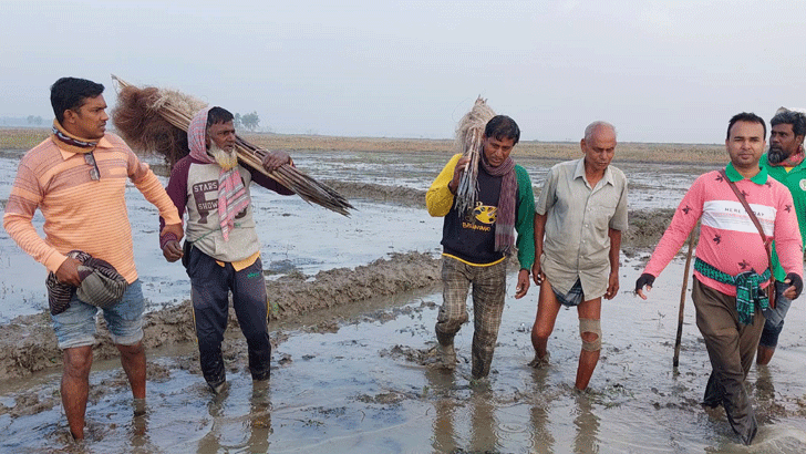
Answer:
[{"label": "white-bearded man with pink checked scarf over his head", "polygon": [[[254,180],[278,194],[293,194],[238,164],[232,120],[228,111],[211,107],[198,112],[190,122],[190,154],[176,163],[167,186],[179,214],[188,213],[185,247],[179,247],[178,238],[162,241],[165,258],[182,258],[190,277],[202,373],[215,393],[226,384],[221,342],[230,291],[247,341],[252,380],[270,376],[268,299],[249,184]],[[283,152],[271,152],[262,162],[268,172],[286,164],[291,164],[291,158]]]}]

